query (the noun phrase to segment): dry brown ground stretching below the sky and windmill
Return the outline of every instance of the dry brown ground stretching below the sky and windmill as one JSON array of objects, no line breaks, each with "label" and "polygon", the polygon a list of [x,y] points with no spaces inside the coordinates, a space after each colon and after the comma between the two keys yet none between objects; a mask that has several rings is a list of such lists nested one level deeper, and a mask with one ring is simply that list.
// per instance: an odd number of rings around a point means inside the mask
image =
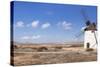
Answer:
[{"label": "dry brown ground stretching below the sky and windmill", "polygon": [[15,66],[34,64],[55,64],[69,62],[96,61],[97,52],[85,51],[82,46],[17,46],[14,57]]}]

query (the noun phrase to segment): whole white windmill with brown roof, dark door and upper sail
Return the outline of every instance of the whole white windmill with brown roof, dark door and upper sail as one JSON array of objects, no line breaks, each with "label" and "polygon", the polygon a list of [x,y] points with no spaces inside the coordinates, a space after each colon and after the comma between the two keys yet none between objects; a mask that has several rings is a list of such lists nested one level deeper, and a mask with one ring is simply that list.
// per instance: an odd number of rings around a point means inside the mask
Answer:
[{"label": "whole white windmill with brown roof, dark door and upper sail", "polygon": [[84,27],[84,48],[97,48],[97,24],[91,23],[91,21],[88,19],[88,16],[86,16],[85,12],[82,12],[83,17],[85,19],[86,26]]}]

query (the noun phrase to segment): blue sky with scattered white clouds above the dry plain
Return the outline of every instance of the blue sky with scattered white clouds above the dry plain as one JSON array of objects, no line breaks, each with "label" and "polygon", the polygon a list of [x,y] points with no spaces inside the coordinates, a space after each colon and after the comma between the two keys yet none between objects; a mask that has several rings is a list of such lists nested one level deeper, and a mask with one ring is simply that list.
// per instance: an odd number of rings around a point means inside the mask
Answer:
[{"label": "blue sky with scattered white clouds above the dry plain", "polygon": [[24,43],[57,43],[83,41],[77,38],[85,26],[82,10],[96,22],[97,7],[71,4],[13,2],[14,41]]}]

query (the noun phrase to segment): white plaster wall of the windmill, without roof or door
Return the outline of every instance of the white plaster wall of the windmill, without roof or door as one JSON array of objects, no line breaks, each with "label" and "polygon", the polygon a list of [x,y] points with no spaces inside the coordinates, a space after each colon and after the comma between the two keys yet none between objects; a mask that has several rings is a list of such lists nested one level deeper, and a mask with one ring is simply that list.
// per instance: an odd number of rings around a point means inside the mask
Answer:
[{"label": "white plaster wall of the windmill, without roof or door", "polygon": [[[96,38],[97,38],[97,31],[95,31]],[[90,31],[85,31],[84,35],[84,48],[87,48],[87,43],[90,43],[90,48],[97,48],[96,40],[94,33]]]}]

